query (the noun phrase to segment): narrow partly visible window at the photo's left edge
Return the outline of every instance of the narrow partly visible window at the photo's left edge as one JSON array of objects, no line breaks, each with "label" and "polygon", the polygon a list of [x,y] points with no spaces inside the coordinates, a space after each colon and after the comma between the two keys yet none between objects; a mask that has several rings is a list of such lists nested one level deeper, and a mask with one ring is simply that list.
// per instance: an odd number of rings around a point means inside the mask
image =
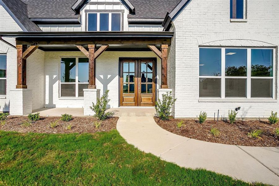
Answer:
[{"label": "narrow partly visible window at the photo's left edge", "polygon": [[6,95],[7,55],[0,54],[0,95]]}]

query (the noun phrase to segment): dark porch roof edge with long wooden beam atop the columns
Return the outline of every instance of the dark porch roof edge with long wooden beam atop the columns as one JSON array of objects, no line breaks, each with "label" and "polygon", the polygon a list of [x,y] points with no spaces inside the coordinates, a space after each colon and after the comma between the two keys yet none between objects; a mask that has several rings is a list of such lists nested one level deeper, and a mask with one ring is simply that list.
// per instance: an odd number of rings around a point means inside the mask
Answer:
[{"label": "dark porch roof edge with long wooden beam atop the columns", "polygon": [[173,32],[0,32],[17,45],[39,45],[42,50],[76,50],[75,45],[110,45],[110,50],[148,50],[147,45],[170,45]]}]

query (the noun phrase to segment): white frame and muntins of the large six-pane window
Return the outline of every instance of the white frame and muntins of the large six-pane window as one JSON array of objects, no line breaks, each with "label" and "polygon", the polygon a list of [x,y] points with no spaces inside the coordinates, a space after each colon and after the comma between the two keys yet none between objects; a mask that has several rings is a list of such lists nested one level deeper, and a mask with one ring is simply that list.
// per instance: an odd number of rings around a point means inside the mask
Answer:
[{"label": "white frame and muntins of the large six-pane window", "polygon": [[[199,57],[198,57],[198,99],[222,99],[222,100],[249,100],[249,99],[266,99],[275,100],[275,48],[274,47],[198,47],[198,56],[200,48],[221,49],[221,76],[200,76],[199,75]],[[225,49],[247,49],[247,76],[225,76]],[[271,49],[273,52],[272,77],[251,76],[251,49]],[[277,68],[277,67],[276,67]],[[200,97],[199,96],[199,79],[200,78],[221,78],[221,97]],[[247,97],[225,97],[225,80],[226,79],[246,79],[246,96]],[[251,98],[251,79],[272,79],[272,97],[252,97]]]}]

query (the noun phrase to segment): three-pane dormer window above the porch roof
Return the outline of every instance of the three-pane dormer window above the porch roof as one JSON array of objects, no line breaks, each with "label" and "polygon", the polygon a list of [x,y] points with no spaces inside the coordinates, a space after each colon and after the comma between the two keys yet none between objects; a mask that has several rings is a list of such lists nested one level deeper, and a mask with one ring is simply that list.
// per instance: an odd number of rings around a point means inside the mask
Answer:
[{"label": "three-pane dormer window above the porch roof", "polygon": [[121,31],[121,13],[88,13],[88,31]]}]

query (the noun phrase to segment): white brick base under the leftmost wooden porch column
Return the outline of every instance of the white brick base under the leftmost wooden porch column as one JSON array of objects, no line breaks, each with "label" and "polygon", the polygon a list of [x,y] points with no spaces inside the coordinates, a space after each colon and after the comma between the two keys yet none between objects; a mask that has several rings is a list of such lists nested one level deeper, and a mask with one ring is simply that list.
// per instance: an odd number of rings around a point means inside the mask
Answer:
[{"label": "white brick base under the leftmost wooden porch column", "polygon": [[10,114],[27,115],[32,113],[32,90],[14,89],[10,90]]}]

